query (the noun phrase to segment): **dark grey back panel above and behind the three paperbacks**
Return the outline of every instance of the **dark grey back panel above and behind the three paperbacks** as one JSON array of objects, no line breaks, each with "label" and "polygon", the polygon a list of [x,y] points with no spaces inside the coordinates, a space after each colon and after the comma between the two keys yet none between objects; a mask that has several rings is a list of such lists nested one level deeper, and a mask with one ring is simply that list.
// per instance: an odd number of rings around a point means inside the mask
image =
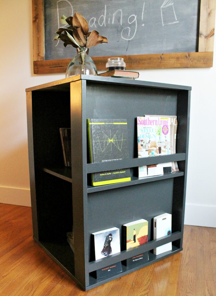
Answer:
[{"label": "dark grey back panel above and behind the three paperbacks", "polygon": [[88,194],[89,240],[91,233],[112,227],[120,229],[121,240],[121,226],[143,218],[149,221],[150,241],[153,218],[172,213],[172,206],[173,179]]}]

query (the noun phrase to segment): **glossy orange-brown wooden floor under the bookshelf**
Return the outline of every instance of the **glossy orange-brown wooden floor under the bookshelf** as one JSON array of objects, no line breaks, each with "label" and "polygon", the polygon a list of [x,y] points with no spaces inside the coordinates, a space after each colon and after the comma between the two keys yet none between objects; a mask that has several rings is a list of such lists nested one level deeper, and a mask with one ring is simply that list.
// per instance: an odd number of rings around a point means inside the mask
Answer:
[{"label": "glossy orange-brown wooden floor under the bookshelf", "polygon": [[32,238],[31,208],[0,204],[1,296],[215,296],[216,228],[185,226],[183,251],[90,291]]}]

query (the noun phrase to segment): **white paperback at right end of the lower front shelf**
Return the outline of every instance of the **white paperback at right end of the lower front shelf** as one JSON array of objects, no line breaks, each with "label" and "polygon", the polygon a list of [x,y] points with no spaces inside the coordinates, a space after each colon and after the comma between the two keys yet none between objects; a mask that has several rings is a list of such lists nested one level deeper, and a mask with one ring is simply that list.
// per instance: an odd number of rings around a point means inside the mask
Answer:
[{"label": "white paperback at right end of the lower front shelf", "polygon": [[[157,217],[154,217],[154,239],[164,237],[172,232],[172,215],[164,213]],[[159,255],[161,253],[172,250],[172,243],[163,244],[160,247],[154,248],[154,254]]]}]

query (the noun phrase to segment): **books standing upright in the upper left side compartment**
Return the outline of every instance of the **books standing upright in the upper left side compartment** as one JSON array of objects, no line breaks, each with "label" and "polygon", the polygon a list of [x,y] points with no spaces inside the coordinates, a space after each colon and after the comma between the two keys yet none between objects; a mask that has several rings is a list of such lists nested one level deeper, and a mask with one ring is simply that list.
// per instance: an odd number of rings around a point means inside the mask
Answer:
[{"label": "books standing upright in the upper left side compartment", "polygon": [[64,165],[71,167],[71,129],[59,128],[63,150]]}]

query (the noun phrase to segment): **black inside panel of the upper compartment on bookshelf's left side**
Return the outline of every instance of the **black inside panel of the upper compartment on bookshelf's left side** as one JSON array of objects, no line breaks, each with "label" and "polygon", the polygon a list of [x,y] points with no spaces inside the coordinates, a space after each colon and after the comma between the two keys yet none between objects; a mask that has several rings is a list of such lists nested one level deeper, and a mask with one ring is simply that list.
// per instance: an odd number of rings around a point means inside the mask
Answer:
[{"label": "black inside panel of the upper compartment on bookshelf's left side", "polygon": [[33,91],[32,105],[35,165],[64,166],[59,128],[70,127],[70,94]]}]

